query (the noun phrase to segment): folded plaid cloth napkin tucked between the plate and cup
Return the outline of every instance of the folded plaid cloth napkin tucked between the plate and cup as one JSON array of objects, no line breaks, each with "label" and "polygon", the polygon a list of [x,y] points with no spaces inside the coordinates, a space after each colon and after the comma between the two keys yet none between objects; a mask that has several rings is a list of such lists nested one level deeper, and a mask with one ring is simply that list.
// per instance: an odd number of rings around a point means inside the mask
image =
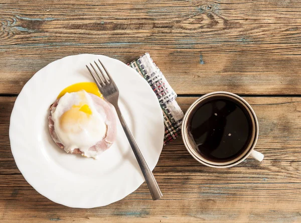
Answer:
[{"label": "folded plaid cloth napkin tucked between the plate and cup", "polygon": [[134,68],[144,77],[158,97],[164,116],[164,145],[166,145],[166,143],[176,139],[181,132],[184,114],[176,101],[177,94],[148,53],[143,54],[127,65]]}]

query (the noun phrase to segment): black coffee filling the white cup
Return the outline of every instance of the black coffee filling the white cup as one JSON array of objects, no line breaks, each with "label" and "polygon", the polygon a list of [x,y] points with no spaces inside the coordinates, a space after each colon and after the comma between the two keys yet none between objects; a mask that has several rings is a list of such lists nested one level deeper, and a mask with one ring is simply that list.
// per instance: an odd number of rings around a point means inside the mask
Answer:
[{"label": "black coffee filling the white cup", "polygon": [[252,128],[243,105],[219,96],[205,100],[195,110],[189,129],[201,156],[213,162],[227,162],[245,151]]}]

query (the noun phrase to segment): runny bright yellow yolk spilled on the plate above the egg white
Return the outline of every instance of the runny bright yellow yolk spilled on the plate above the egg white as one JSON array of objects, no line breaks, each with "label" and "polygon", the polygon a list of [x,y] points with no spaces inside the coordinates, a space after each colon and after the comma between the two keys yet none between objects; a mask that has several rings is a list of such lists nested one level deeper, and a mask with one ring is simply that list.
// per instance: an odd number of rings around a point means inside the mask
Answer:
[{"label": "runny bright yellow yolk spilled on the plate above the egg white", "polygon": [[[58,95],[57,99],[62,97],[67,92],[71,93],[71,92],[77,92],[77,91],[80,91],[80,90],[85,90],[88,93],[92,93],[92,94],[97,95],[98,97],[103,98],[103,96],[100,93],[96,83],[94,83],[94,82],[80,82],[80,83],[72,84],[72,85],[66,87]],[[83,109],[85,109],[85,108],[83,108]]]}]

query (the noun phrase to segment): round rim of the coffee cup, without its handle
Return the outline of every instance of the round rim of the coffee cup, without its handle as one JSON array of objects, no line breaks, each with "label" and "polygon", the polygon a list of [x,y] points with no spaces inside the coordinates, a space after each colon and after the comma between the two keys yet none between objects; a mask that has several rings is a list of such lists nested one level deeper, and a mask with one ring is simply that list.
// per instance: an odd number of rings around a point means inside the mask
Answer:
[{"label": "round rim of the coffee cup, without its handle", "polygon": [[[253,118],[254,118],[254,122],[255,122],[255,137],[254,140],[252,142],[252,145],[249,148],[249,151],[247,153],[244,154],[244,156],[242,156],[239,160],[234,161],[233,163],[226,163],[225,165],[215,165],[212,163],[207,163],[206,161],[204,161],[203,159],[201,159],[201,155],[197,154],[197,152],[191,147],[190,143],[188,142],[188,132],[185,131],[187,129],[187,125],[188,125],[188,118],[191,115],[191,111],[199,104],[200,101],[202,101],[203,99],[205,99],[208,96],[212,96],[215,94],[225,94],[225,95],[231,95],[237,99],[239,99],[241,102],[243,102],[250,110],[250,113],[252,114]],[[195,158],[197,161],[199,161],[200,163],[209,166],[209,167],[215,167],[215,168],[226,168],[226,167],[232,167],[235,166],[239,163],[241,163],[242,161],[244,161],[250,154],[251,152],[254,150],[254,147],[257,143],[258,140],[258,134],[259,134],[259,128],[258,128],[258,120],[255,114],[255,111],[253,110],[253,108],[251,107],[251,105],[242,97],[238,96],[237,94],[231,93],[231,92],[227,92],[227,91],[214,91],[211,93],[207,93],[203,96],[201,96],[200,98],[198,98],[197,100],[195,100],[187,109],[185,116],[183,118],[183,122],[182,122],[182,128],[181,128],[181,134],[182,134],[182,139],[184,142],[184,145],[187,149],[187,151],[190,153],[190,155],[192,155],[193,158]],[[231,161],[229,161],[231,162]]]}]

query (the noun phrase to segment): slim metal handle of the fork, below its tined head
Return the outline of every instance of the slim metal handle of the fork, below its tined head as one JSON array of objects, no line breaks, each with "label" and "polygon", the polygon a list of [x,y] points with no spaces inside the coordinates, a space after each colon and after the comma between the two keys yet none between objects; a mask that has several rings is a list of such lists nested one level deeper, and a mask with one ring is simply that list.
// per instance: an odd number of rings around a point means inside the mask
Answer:
[{"label": "slim metal handle of the fork, below its tined head", "polygon": [[152,171],[150,171],[141,151],[139,150],[139,147],[133,137],[133,135],[131,134],[131,132],[129,131],[122,115],[121,115],[121,111],[119,109],[118,106],[115,106],[115,109],[116,109],[116,112],[117,112],[117,115],[118,115],[118,118],[120,120],[120,123],[121,123],[121,126],[124,130],[124,133],[128,139],[128,142],[129,142],[129,145],[131,146],[134,154],[135,154],[135,157],[138,161],[138,164],[140,166],[140,169],[143,173],[143,176],[145,178],[145,181],[147,183],[147,186],[148,186],[148,189],[150,191],[150,194],[152,194],[152,197],[153,197],[153,200],[158,200],[160,199],[163,195],[162,195],[162,192],[158,186],[158,183],[152,173]]}]

